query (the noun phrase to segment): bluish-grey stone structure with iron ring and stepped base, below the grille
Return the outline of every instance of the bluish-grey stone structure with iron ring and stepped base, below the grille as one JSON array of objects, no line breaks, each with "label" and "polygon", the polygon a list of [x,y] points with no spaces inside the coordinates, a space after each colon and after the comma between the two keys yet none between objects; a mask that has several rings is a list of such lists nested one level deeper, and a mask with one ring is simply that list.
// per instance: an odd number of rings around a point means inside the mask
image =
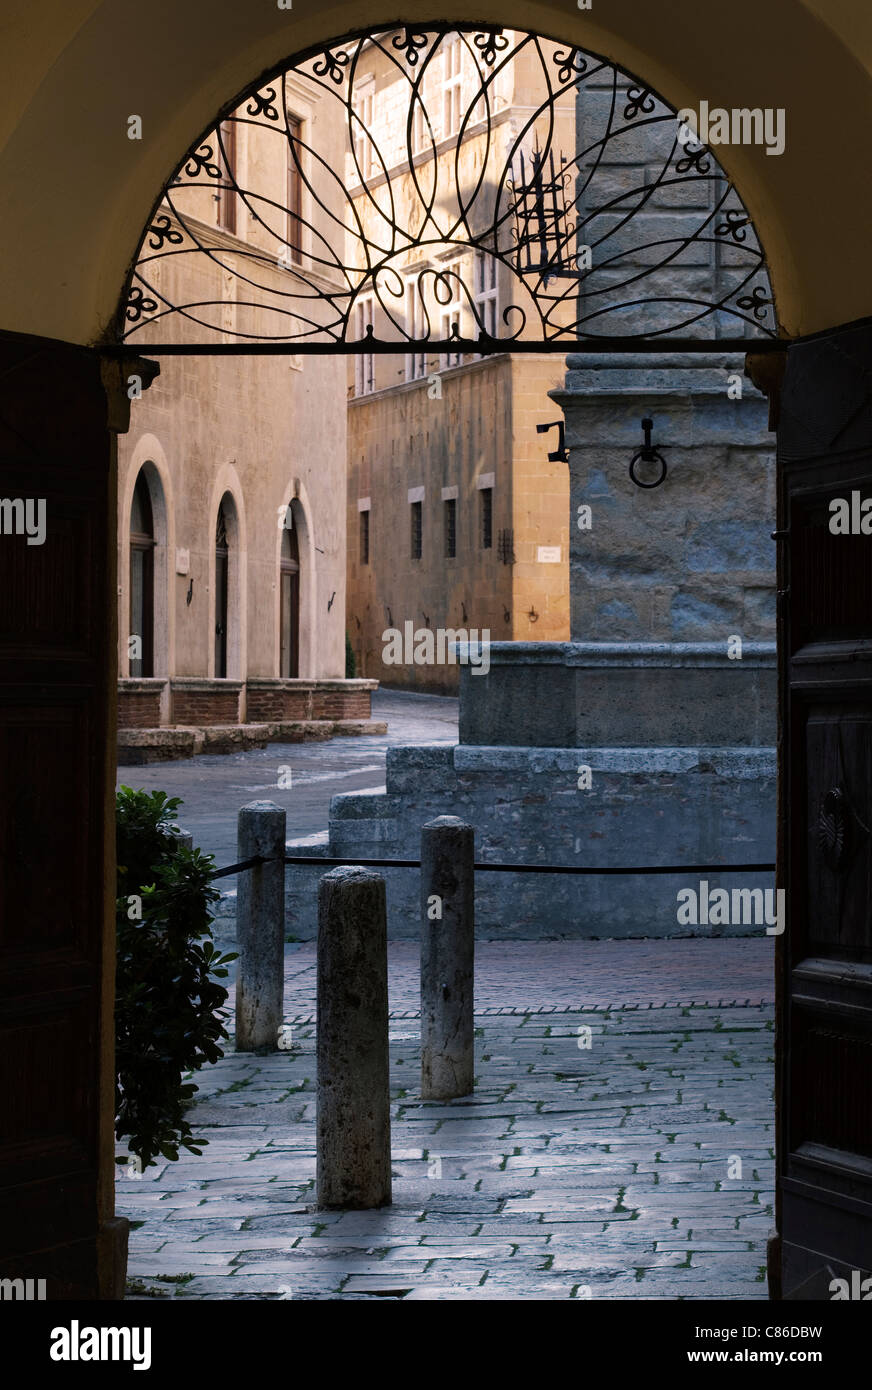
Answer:
[{"label": "bluish-grey stone structure with iron ring and stepped base, below the grille", "polygon": [[[552,395],[570,456],[572,641],[494,644],[487,674],[462,670],[459,744],[391,749],[385,790],[335,796],[328,831],[296,852],[417,858],[421,824],[456,815],[476,827],[478,862],[773,860],[766,403],[736,359],[586,356],[567,367]],[[643,417],[668,464],[649,491],[629,477]],[[590,507],[590,527],[574,524],[579,507]],[[292,935],[314,934],[317,877],[288,869]],[[478,873],[477,931],[681,935],[676,895],[701,877]],[[772,885],[770,874],[705,877],[711,887]],[[387,878],[388,930],[416,937],[417,876]]]}]

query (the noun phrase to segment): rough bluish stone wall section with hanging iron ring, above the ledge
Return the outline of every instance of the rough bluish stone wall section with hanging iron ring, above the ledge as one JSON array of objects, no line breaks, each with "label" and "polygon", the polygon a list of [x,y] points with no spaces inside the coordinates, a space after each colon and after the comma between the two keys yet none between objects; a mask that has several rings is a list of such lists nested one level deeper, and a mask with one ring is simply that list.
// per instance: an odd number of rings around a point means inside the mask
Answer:
[{"label": "rough bluish stone wall section with hanging iron ring, above the ledge", "polygon": [[[570,449],[573,639],[772,641],[775,446],[741,359],[570,356],[567,367],[552,396]],[[727,395],[736,382],[741,399]],[[651,489],[629,475],[643,418],[668,466]]]}]

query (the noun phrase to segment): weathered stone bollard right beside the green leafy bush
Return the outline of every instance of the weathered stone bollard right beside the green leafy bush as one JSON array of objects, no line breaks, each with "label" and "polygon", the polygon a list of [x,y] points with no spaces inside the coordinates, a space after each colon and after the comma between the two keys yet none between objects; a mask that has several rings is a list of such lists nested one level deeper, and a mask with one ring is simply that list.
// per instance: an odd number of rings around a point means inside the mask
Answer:
[{"label": "weathered stone bollard right beside the green leafy bush", "polygon": [[277,1051],[285,988],[285,812],[271,801],[252,801],[239,808],[236,834],[239,860],[275,860],[242,869],[236,878],[236,1052]]}]

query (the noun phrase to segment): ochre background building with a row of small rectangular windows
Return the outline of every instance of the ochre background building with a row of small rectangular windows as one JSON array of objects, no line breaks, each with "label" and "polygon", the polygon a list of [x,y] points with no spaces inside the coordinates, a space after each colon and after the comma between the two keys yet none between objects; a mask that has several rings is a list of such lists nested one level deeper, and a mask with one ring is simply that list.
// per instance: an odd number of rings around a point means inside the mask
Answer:
[{"label": "ochre background building with a row of small rectangular windows", "polygon": [[[542,44],[549,58],[556,49]],[[494,175],[508,161],[517,182],[522,152],[530,177],[551,114],[555,146],[570,150],[572,97],[559,96],[530,125],[544,97],[531,54],[505,65],[498,56],[492,82],[483,83],[471,36],[453,33],[410,100],[416,68],[403,70],[391,51],[385,42],[362,56],[349,192],[371,240],[385,235],[388,218],[401,228],[420,221],[421,235],[391,261],[396,285],[359,297],[355,336],[367,325],[384,336],[391,313],[413,339],[427,325],[435,338],[498,336],[520,306],[531,306],[517,277],[485,249],[465,246],[458,227],[465,213],[474,234],[491,222]],[[430,200],[444,239],[423,211]],[[505,206],[496,213],[503,239],[516,235]],[[560,357],[549,353],[410,350],[349,361],[348,613],[360,674],[458,689],[451,655],[444,663],[385,662],[382,634],[407,623],[416,632],[484,630],[494,641],[569,635],[566,466],[548,459],[556,435],[537,434],[555,420],[548,392],[562,375]]]}]

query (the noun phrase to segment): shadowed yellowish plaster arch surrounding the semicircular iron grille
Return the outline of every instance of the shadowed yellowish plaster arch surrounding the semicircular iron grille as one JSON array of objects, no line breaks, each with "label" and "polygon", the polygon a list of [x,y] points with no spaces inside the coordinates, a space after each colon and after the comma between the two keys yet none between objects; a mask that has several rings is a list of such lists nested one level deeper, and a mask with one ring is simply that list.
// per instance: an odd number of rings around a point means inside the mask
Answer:
[{"label": "shadowed yellowish plaster arch surrounding the semicircular iron grille", "polygon": [[[782,321],[872,314],[872,17],[861,0],[455,0],[452,17],[599,51],[676,107],[784,107],[787,149],[718,150],[766,247]],[[238,0],[7,0],[0,29],[0,328],[100,338],[145,220],[220,107],[284,57],[396,13]],[[445,18],[407,0],[405,22]],[[128,140],[127,118],[143,120]]]}]

